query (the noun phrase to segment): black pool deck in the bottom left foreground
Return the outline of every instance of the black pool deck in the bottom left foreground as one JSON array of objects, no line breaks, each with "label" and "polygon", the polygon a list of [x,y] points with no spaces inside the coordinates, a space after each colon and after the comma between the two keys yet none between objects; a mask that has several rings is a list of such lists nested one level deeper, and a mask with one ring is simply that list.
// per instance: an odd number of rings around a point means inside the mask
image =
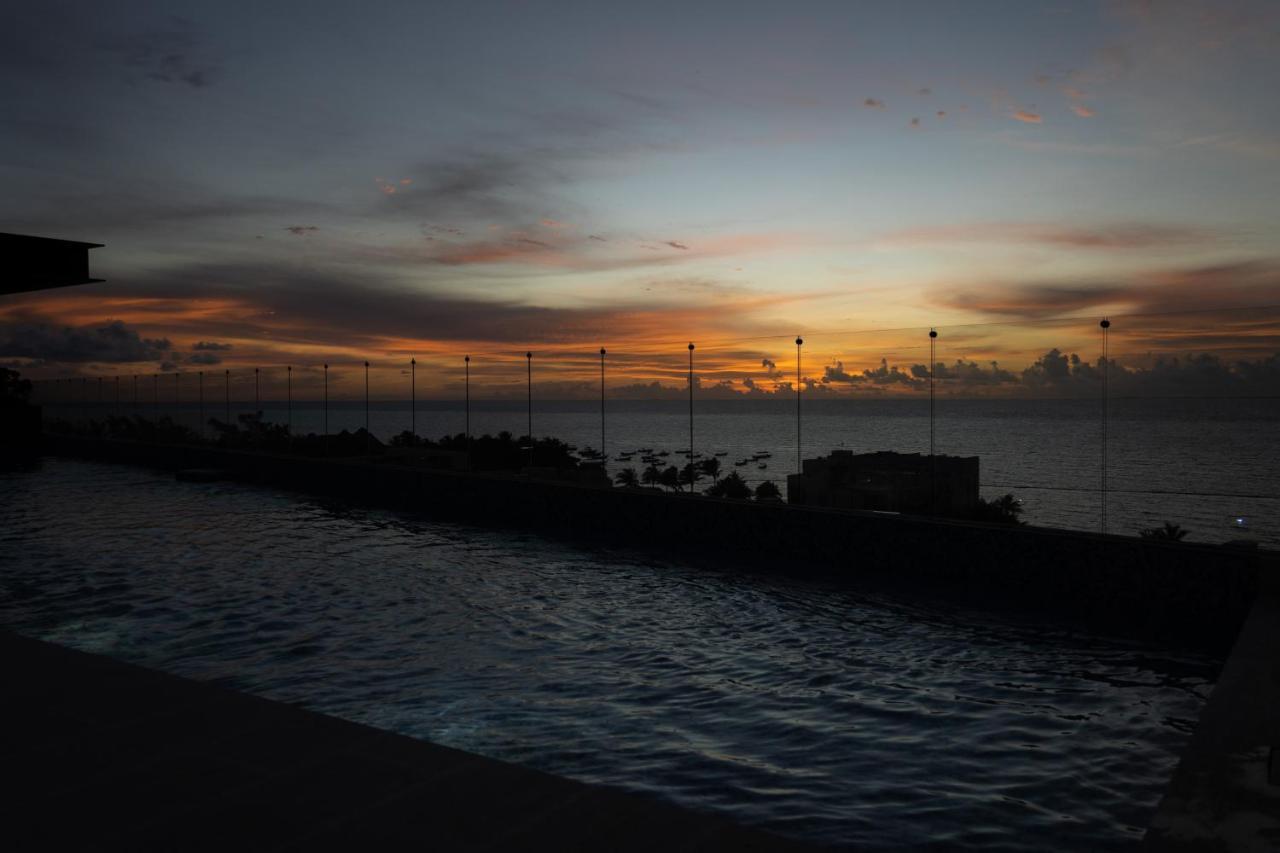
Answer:
[{"label": "black pool deck in the bottom left foreground", "polygon": [[805,845],[0,630],[5,849]]}]

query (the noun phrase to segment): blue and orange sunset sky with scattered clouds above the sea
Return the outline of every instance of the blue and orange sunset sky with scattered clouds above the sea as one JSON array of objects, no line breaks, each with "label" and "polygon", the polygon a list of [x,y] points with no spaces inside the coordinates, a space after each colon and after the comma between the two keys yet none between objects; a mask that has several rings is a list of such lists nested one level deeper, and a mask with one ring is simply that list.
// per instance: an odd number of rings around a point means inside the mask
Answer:
[{"label": "blue and orange sunset sky with scattered clouds above the sea", "polygon": [[1280,350],[1272,1],[106,9],[0,31],[0,231],[106,243],[0,301],[37,378],[413,356],[452,393],[470,352],[500,391],[531,348],[573,394],[695,341],[768,391],[803,334],[854,388],[931,325],[1092,360],[1105,314],[1121,362]]}]

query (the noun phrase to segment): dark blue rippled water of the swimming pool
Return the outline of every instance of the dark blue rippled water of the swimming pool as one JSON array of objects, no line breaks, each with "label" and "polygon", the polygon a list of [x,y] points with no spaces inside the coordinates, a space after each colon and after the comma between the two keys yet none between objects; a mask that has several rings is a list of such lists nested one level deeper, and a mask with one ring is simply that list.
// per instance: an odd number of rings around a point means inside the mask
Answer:
[{"label": "dark blue rippled water of the swimming pool", "polygon": [[125,466],[0,512],[10,628],[828,844],[1134,844],[1217,666]]}]

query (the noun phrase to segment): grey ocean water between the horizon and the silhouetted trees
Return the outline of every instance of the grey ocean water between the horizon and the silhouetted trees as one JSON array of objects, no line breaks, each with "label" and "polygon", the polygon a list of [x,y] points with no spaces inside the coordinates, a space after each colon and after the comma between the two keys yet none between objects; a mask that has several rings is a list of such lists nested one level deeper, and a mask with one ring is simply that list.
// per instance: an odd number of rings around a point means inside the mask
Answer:
[{"label": "grey ocean water between the horizon and the silhouetted trees", "polygon": [[[324,429],[324,409],[312,401],[296,401],[292,414],[280,402],[262,409],[276,423],[292,420],[294,430]],[[131,410],[122,406],[124,414]],[[230,405],[233,418],[250,410],[252,405],[243,402]],[[138,411],[155,409],[141,405]],[[198,426],[195,405],[161,405],[160,411]],[[224,418],[227,411],[220,401],[210,401],[204,414]],[[365,418],[362,402],[329,406],[333,432],[358,429]],[[522,435],[527,419],[525,401],[471,407],[475,434]],[[689,447],[689,420],[685,401],[608,401],[605,451],[616,456],[653,447],[671,453],[667,462],[684,465],[677,451]],[[797,469],[794,401],[696,401],[692,420],[695,451],[723,452],[726,471],[736,470],[753,484],[773,480],[785,493],[786,475]],[[599,401],[534,401],[535,435],[599,448],[600,421]],[[979,457],[984,497],[1012,492],[1030,524],[1101,529],[1103,442],[1097,401],[941,398],[933,423],[937,452]],[[411,424],[419,434],[438,438],[461,433],[466,412],[457,401],[420,401],[416,414],[408,401],[375,401],[369,424],[384,439]],[[806,401],[800,426],[805,457],[833,448],[929,451],[927,401]],[[1253,539],[1280,547],[1280,400],[1112,400],[1106,448],[1108,532],[1135,534],[1170,521],[1185,528],[1190,540]],[[735,467],[758,452],[772,453],[763,460],[765,467],[759,462]],[[609,465],[614,471],[625,465],[643,469],[639,456],[631,462],[613,459]]]}]

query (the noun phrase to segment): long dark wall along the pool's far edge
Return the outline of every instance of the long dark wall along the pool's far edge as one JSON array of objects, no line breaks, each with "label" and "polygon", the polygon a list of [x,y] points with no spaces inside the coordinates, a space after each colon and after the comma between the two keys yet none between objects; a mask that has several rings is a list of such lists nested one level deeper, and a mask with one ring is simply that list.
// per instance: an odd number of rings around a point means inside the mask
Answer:
[{"label": "long dark wall along the pool's far edge", "polygon": [[474,524],[731,557],[788,575],[879,578],[1069,613],[1094,629],[1230,647],[1275,555],[1043,528],[719,501],[509,475],[422,470],[206,447],[50,437],[54,452],[165,469],[219,467],[250,482]]}]

